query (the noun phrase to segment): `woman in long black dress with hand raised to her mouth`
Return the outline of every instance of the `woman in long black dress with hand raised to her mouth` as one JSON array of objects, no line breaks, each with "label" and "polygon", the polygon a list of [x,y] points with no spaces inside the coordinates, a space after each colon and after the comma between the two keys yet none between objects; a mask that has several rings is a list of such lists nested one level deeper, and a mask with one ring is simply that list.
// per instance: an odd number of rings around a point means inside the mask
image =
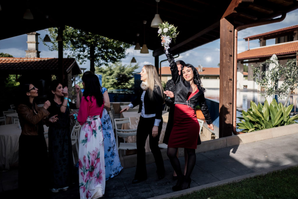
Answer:
[{"label": "woman in long black dress with hand raised to her mouth", "polygon": [[76,104],[69,102],[68,89],[54,80],[50,85],[50,116],[57,115],[58,121],[49,126],[49,177],[50,190],[66,191],[72,183],[72,141],[70,135],[70,110],[80,108],[80,87],[75,85]]}]

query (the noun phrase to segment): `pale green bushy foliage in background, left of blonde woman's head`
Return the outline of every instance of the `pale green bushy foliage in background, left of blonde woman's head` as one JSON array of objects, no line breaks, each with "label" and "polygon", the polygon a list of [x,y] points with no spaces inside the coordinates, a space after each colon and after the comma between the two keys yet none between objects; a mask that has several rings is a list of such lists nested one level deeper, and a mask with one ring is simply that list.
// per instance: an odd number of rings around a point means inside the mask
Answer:
[{"label": "pale green bushy foliage in background, left of blonde woman's head", "polygon": [[139,68],[138,64],[122,65],[121,62],[108,64],[96,69],[97,74],[102,75],[103,87],[107,89],[129,89],[134,88],[134,71]]}]

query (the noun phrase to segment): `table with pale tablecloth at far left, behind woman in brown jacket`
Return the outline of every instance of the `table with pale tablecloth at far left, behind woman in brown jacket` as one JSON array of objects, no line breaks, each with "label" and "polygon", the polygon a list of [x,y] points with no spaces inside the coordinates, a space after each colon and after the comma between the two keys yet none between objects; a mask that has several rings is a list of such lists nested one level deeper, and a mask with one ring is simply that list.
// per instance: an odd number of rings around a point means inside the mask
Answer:
[{"label": "table with pale tablecloth at far left, behind woman in brown jacket", "polygon": [[[44,125],[47,135],[49,127]],[[0,125],[0,169],[9,170],[18,165],[18,148],[21,129],[18,124]]]}]

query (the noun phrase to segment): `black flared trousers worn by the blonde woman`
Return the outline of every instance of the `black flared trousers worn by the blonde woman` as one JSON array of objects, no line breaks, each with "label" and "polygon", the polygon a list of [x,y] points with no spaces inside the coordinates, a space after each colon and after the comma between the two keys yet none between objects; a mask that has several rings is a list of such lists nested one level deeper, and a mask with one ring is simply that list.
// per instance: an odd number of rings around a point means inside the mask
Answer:
[{"label": "black flared trousers worn by the blonde woman", "polygon": [[152,118],[143,118],[140,117],[137,133],[136,133],[136,147],[137,147],[137,161],[136,161],[136,175],[134,179],[146,179],[147,170],[146,170],[146,155],[145,155],[145,143],[149,135],[149,146],[151,152],[153,153],[157,174],[162,175],[164,170],[164,161],[162,159],[162,153],[158,147],[160,132],[162,131],[162,121],[159,123],[158,135],[152,137],[152,128],[154,126],[155,117]]}]

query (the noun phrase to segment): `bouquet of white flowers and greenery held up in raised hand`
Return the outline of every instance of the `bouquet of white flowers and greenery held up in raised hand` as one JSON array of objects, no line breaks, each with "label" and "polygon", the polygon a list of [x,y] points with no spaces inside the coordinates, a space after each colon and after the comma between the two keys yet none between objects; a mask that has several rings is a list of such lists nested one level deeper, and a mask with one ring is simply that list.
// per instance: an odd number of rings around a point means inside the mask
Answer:
[{"label": "bouquet of white flowers and greenery held up in raised hand", "polygon": [[162,24],[158,24],[158,36],[161,35],[161,39],[164,39],[165,42],[162,42],[162,46],[166,49],[166,54],[168,54],[168,49],[170,48],[169,45],[171,41],[176,40],[177,35],[179,32],[176,32],[177,27],[174,27],[172,24],[169,24],[167,21],[165,21]]}]

